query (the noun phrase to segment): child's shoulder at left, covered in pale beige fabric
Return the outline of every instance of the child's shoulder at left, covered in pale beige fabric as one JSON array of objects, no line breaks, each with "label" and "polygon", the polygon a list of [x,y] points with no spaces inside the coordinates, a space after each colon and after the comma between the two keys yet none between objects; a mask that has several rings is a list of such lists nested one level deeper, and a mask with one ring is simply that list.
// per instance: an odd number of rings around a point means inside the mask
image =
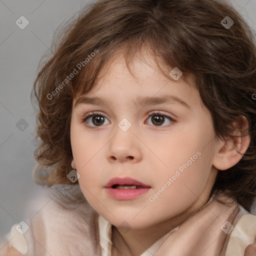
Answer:
[{"label": "child's shoulder at left, covered in pale beige fabric", "polygon": [[41,200],[39,206],[24,220],[28,229],[20,234],[15,224],[6,236],[8,246],[20,255],[79,255],[84,250],[93,255],[97,213],[86,201],[75,203],[60,196],[52,191],[37,198]]}]

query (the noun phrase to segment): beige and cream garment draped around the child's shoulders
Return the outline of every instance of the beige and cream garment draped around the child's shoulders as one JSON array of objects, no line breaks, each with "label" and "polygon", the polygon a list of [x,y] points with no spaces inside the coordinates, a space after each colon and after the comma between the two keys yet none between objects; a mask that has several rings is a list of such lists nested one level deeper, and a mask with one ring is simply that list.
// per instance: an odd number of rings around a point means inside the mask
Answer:
[{"label": "beige and cream garment draped around the child's shoulders", "polygon": [[[7,247],[27,256],[111,255],[112,225],[87,202],[60,206],[52,198],[31,215],[24,233],[20,224],[11,228],[0,255]],[[255,238],[256,216],[218,193],[141,256],[243,256]]]}]

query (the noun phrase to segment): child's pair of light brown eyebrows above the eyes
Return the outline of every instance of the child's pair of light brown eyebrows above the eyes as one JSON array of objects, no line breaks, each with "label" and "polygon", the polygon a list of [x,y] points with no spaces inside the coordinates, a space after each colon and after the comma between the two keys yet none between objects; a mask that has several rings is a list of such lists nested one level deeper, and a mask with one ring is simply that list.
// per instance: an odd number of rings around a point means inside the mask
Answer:
[{"label": "child's pair of light brown eyebrows above the eyes", "polygon": [[[144,105],[157,105],[162,103],[169,103],[169,104],[178,103],[190,109],[190,106],[184,100],[173,95],[163,95],[160,97],[137,96],[136,99],[135,100],[133,99],[131,102],[136,107],[142,107]],[[76,107],[79,104],[112,105],[112,101],[107,98],[80,96],[75,101],[74,107]]]}]

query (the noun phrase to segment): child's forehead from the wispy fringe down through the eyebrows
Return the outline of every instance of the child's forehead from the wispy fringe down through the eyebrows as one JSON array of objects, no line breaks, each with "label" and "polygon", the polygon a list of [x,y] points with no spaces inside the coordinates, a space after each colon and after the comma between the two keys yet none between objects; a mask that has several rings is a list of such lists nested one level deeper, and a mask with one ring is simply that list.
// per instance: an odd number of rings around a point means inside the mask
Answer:
[{"label": "child's forehead from the wispy fringe down through the eyebrows", "polygon": [[[163,67],[165,69],[159,70],[155,59],[148,53],[136,55],[132,61],[126,62],[123,52],[118,52],[100,70],[92,89],[87,93],[79,94],[74,99],[73,106],[79,104],[112,106],[126,90],[127,93],[133,91],[129,99],[136,107],[146,104],[176,103],[189,109],[194,103],[188,103],[193,98],[191,92],[196,94],[197,90],[192,84],[184,81],[182,75],[175,81],[169,75],[171,67],[169,70],[168,67]],[[136,90],[134,85],[137,87]],[[196,100],[200,101],[198,95]]]}]

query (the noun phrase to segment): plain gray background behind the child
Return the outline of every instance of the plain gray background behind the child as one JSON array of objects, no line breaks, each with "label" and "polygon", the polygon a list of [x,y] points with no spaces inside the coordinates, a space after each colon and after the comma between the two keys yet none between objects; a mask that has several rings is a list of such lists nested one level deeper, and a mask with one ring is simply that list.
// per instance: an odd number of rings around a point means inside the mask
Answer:
[{"label": "plain gray background behind the child", "polygon": [[[22,220],[28,202],[36,202],[42,192],[31,175],[36,162],[30,92],[38,62],[56,28],[87,2],[0,0],[0,237]],[[231,3],[256,31],[256,0]],[[22,15],[29,21],[24,29],[15,24]],[[16,127],[18,121],[24,122],[21,118],[28,124],[23,131]],[[37,207],[45,203],[45,199],[37,200]]]}]

